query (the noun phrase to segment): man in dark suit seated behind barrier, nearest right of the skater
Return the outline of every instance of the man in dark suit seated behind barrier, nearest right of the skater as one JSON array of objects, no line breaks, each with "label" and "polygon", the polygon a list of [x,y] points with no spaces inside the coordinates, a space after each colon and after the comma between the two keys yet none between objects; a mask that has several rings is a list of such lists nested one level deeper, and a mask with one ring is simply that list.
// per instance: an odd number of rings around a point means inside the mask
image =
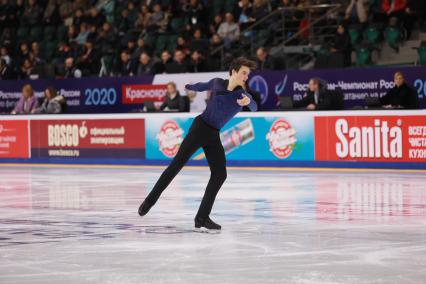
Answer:
[{"label": "man in dark suit seated behind barrier, nearest right of the skater", "polygon": [[300,101],[293,103],[295,108],[306,107],[307,110],[332,110],[332,98],[327,92],[326,83],[319,78],[309,80],[309,90]]}]

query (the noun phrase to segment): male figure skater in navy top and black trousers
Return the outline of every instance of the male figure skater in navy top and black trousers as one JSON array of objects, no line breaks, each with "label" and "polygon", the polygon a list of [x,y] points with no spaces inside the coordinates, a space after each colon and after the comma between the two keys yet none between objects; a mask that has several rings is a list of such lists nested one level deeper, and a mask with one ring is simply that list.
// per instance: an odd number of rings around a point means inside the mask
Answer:
[{"label": "male figure skater in navy top and black trousers", "polygon": [[194,220],[195,228],[200,230],[221,229],[221,226],[209,217],[216,195],[226,179],[225,151],[220,141],[219,131],[244,106],[249,107],[251,111],[257,110],[253,98],[244,90],[249,73],[255,68],[256,63],[240,57],[231,62],[229,80],[214,78],[206,83],[185,86],[187,90],[191,91],[210,90],[210,99],[204,112],[194,119],[176,156],[139,207],[140,216],[148,213],[192,154],[202,147],[211,176]]}]

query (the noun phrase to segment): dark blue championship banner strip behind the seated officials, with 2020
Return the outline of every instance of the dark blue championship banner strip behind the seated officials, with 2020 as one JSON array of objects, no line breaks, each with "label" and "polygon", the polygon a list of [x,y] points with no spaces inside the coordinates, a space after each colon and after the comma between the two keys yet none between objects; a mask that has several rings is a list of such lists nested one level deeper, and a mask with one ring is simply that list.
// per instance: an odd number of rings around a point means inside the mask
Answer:
[{"label": "dark blue championship banner strip behind the seated officials, with 2020", "polygon": [[[264,111],[276,109],[281,96],[289,96],[294,101],[302,99],[313,77],[325,80],[330,90],[340,88],[345,108],[352,109],[365,107],[366,97],[384,96],[394,87],[393,76],[397,71],[402,72],[407,83],[417,91],[421,108],[426,108],[426,67],[255,71],[248,82],[251,89],[260,93]],[[227,78],[228,72],[2,81],[0,113],[11,112],[21,97],[24,84],[31,84],[40,99],[44,90],[53,86],[66,98],[67,113],[128,113],[140,112],[145,101],[161,102],[168,82],[175,82],[179,92],[186,95],[185,84],[206,82],[215,77]],[[206,92],[196,93],[191,100],[191,111],[202,111],[205,99]]]}]

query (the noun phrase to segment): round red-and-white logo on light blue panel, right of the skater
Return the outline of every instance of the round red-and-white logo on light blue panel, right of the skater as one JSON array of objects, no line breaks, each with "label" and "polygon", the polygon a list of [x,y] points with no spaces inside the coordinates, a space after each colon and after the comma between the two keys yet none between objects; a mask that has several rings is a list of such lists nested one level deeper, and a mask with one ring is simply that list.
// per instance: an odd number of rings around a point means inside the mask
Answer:
[{"label": "round red-and-white logo on light blue panel, right of the skater", "polygon": [[279,159],[288,158],[296,144],[296,129],[286,120],[279,118],[272,123],[266,139],[269,141],[269,150]]}]

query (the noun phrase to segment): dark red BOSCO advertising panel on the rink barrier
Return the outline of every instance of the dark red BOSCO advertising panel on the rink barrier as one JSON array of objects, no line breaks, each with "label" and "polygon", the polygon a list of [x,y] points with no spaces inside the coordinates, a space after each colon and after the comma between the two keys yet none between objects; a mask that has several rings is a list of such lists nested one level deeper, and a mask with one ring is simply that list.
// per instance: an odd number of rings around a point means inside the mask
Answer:
[{"label": "dark red BOSCO advertising panel on the rink barrier", "polygon": [[31,121],[32,157],[145,158],[144,119]]}]

